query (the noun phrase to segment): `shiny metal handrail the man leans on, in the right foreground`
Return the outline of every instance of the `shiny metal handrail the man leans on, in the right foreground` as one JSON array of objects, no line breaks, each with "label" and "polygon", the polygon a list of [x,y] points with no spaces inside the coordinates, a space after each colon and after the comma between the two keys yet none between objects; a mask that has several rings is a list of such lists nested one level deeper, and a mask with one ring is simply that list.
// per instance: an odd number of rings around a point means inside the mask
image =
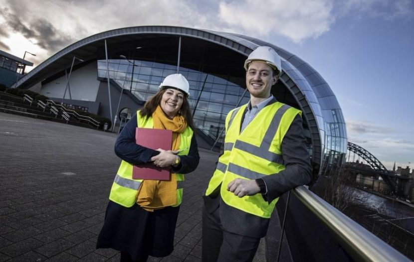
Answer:
[{"label": "shiny metal handrail the man leans on, in the right foreground", "polygon": [[344,248],[355,260],[411,261],[306,187],[299,186],[292,192],[343,242]]}]

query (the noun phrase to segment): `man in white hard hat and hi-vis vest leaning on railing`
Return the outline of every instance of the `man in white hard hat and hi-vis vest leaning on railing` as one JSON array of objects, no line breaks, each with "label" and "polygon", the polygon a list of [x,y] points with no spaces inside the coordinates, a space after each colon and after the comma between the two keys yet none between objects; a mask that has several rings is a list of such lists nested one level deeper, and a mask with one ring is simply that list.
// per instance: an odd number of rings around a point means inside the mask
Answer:
[{"label": "man in white hard hat and hi-vis vest leaning on railing", "polygon": [[312,178],[301,111],[270,94],[279,55],[260,46],[244,69],[250,101],[227,115],[224,151],[204,197],[203,262],[252,261],[278,197]]}]

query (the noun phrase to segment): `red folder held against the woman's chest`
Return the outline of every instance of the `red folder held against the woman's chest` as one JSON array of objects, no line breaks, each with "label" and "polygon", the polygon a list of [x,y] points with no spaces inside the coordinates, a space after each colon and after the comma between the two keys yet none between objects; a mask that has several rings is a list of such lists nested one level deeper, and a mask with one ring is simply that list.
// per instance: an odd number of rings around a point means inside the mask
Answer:
[{"label": "red folder held against the woman's chest", "polygon": [[[171,150],[173,131],[166,129],[137,128],[135,141],[137,144],[151,148]],[[152,163],[134,165],[133,179],[170,180],[170,168],[161,168]]]}]

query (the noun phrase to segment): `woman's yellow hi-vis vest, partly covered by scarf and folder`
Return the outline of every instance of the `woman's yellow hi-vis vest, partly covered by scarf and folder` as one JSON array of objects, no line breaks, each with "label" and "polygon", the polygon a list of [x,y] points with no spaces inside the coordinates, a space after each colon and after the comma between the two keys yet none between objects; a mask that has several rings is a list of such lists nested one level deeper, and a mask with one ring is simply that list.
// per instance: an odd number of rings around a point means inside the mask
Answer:
[{"label": "woman's yellow hi-vis vest, partly covered by scarf and folder", "polygon": [[[140,112],[137,112],[137,123],[139,128],[153,128],[153,119],[149,117],[141,117]],[[190,150],[191,138],[193,136],[193,130],[190,127],[180,134],[180,150],[183,150],[179,155],[188,155]],[[133,165],[122,160],[119,166],[117,175],[115,176],[114,183],[112,184],[111,193],[109,199],[115,203],[124,207],[132,207],[137,202],[138,188],[141,185],[142,179],[132,179],[132,167]],[[177,178],[177,204],[174,207],[179,206],[183,200],[183,185],[184,175],[176,174]]]}]

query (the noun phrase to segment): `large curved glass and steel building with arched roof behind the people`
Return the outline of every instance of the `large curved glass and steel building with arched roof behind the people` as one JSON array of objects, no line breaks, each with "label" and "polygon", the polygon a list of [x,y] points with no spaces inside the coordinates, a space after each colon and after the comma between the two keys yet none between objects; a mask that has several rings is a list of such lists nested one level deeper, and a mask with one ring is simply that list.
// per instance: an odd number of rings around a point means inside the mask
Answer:
[{"label": "large curved glass and steel building with arched roof behind the people", "polygon": [[347,150],[345,121],[334,93],[308,63],[259,39],[173,26],[115,29],[64,48],[18,86],[37,88],[53,100],[110,119],[121,111],[128,118],[157,92],[165,76],[179,71],[190,82],[200,146],[212,148],[222,142],[226,114],[249,100],[243,63],[260,45],[272,46],[281,56],[282,75],[271,92],[302,110],[314,168],[329,175],[344,162]]}]

